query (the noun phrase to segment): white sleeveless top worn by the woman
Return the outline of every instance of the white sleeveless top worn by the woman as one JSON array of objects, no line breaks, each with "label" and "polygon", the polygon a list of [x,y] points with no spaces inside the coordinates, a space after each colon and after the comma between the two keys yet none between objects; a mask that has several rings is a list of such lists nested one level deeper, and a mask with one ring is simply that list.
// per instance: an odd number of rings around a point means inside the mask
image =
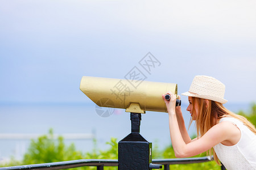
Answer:
[{"label": "white sleeveless top worn by the woman", "polygon": [[236,118],[224,117],[222,121],[230,121],[241,131],[240,141],[233,146],[218,143],[214,146],[218,159],[225,168],[230,169],[256,169],[256,135],[247,126]]}]

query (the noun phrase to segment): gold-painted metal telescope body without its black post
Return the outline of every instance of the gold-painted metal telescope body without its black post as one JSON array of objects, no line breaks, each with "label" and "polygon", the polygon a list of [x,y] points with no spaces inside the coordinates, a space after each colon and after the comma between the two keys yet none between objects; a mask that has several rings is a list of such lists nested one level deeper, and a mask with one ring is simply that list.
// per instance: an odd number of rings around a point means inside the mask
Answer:
[{"label": "gold-painted metal telescope body without its black post", "polygon": [[[177,95],[177,84],[130,79],[82,76],[80,90],[99,107],[126,109],[126,112],[167,112],[162,94]],[[139,84],[137,87],[133,83]]]}]

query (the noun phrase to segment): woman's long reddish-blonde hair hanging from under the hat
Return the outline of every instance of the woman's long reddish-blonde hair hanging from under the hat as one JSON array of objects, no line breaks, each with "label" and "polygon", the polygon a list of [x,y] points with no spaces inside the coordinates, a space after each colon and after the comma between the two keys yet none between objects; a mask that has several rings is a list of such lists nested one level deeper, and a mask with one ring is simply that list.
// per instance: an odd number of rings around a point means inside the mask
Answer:
[{"label": "woman's long reddish-blonde hair hanging from under the hat", "polygon": [[[218,103],[216,101],[208,100],[208,104],[206,102],[206,99],[200,99],[198,97],[192,97],[192,106],[193,106],[193,113],[195,113],[195,105],[198,105],[199,107],[199,113],[196,116],[196,130],[197,130],[197,137],[203,136],[207,131],[212,128],[212,126],[217,124],[218,119],[222,117],[234,117],[243,122],[247,128],[249,128],[251,131],[253,131],[254,134],[256,134],[256,129],[251,122],[249,122],[245,117],[240,116],[238,114],[235,114],[233,112],[230,112],[228,109],[226,109],[221,103]],[[191,120],[192,122],[192,120]],[[191,122],[189,126],[191,125]],[[218,165],[220,164],[220,161],[218,160],[218,157],[216,155],[216,152],[213,148],[207,151],[207,155],[213,155],[213,158],[215,162]]]}]

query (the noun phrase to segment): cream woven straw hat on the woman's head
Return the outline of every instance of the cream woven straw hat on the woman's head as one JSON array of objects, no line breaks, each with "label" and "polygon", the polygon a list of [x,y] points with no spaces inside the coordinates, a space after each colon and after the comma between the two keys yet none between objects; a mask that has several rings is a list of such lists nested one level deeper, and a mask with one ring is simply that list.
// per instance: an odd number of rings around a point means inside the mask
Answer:
[{"label": "cream woven straw hat on the woman's head", "polygon": [[225,85],[219,80],[206,75],[196,75],[188,92],[181,95],[209,99],[219,103],[226,103],[224,99]]}]

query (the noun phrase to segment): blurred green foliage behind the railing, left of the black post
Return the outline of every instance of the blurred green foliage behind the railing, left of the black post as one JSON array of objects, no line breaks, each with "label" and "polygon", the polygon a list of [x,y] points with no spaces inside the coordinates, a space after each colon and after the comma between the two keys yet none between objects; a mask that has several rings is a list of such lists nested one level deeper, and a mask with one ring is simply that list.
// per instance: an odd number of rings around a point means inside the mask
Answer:
[{"label": "blurred green foliage behind the railing, left of the black post", "polygon": [[[47,135],[42,135],[36,140],[31,140],[30,146],[26,154],[24,154],[23,161],[19,162],[11,158],[10,163],[2,164],[0,167],[62,162],[77,159],[118,159],[118,143],[116,138],[111,138],[111,141],[106,143],[110,145],[110,149],[105,151],[97,150],[96,139],[93,139],[93,143],[93,151],[82,154],[81,151],[76,150],[73,143],[69,146],[65,146],[63,137],[60,136],[55,139],[53,130],[50,129]],[[97,167],[80,167],[73,169],[97,169]],[[105,167],[104,169],[117,169],[117,167]]]}]

